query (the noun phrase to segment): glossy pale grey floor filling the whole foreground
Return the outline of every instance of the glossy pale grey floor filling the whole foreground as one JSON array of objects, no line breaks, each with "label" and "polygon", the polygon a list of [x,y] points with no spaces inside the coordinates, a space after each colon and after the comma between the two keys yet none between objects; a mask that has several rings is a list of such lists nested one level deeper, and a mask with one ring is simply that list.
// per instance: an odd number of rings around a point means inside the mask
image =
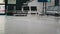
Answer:
[{"label": "glossy pale grey floor filling the whole foreground", "polygon": [[29,15],[0,18],[2,34],[60,34],[60,17]]}]

